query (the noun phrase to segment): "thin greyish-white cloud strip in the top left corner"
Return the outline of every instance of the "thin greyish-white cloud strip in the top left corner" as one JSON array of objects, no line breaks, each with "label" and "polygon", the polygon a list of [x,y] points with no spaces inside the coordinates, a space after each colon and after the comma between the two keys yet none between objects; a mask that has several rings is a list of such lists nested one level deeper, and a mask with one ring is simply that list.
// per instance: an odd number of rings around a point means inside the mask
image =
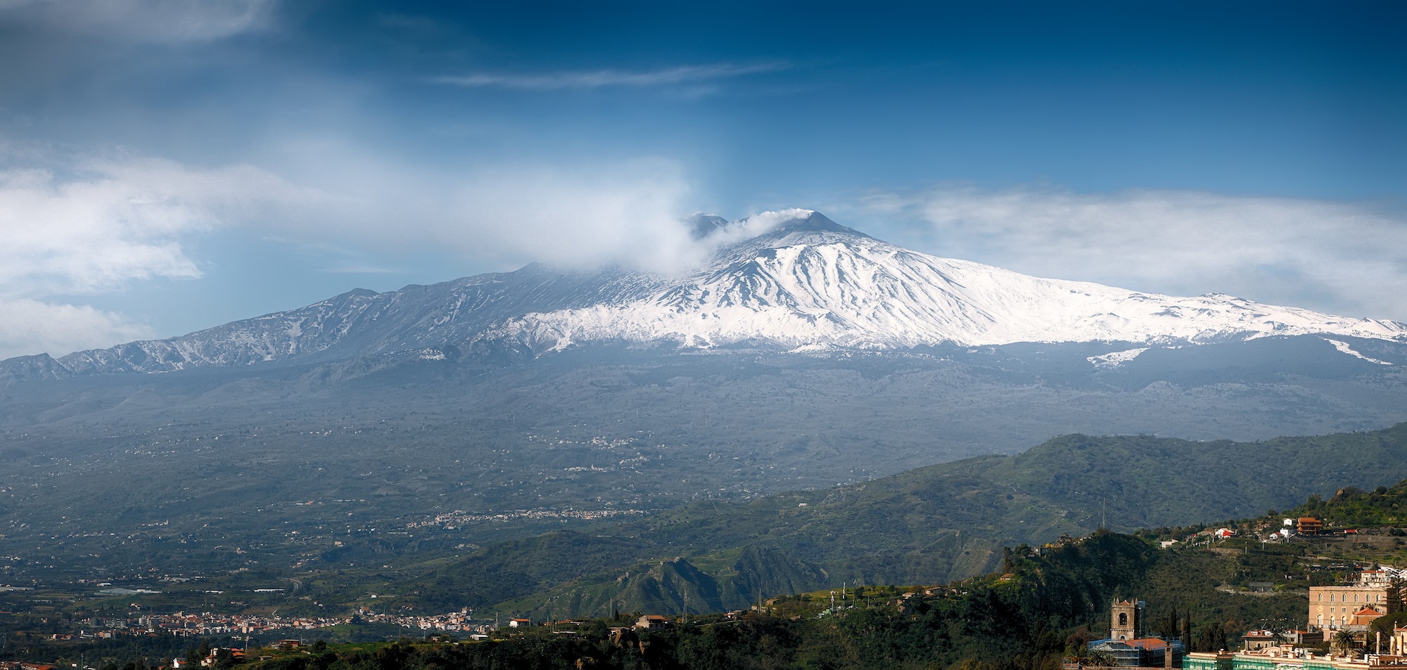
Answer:
[{"label": "thin greyish-white cloud strip in the top left corner", "polygon": [[269,25],[274,0],[0,0],[0,21],[139,42],[207,42]]}]

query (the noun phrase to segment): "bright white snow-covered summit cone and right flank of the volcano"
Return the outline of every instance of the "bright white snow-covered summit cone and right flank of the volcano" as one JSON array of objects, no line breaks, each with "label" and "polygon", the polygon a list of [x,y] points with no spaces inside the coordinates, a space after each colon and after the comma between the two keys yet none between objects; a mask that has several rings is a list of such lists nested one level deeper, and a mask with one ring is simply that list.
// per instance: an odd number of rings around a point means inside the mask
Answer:
[{"label": "bright white snow-covered summit cone and right flank of the volcano", "polygon": [[[1038,279],[909,251],[809,210],[789,214],[758,236],[723,246],[705,267],[663,282],[647,294],[526,314],[484,336],[518,338],[533,348],[623,339],[878,349],[940,342],[1210,342],[1306,334],[1407,339],[1407,325],[1399,322],[1221,294],[1169,297]],[[747,227],[749,221],[733,224]]]}]

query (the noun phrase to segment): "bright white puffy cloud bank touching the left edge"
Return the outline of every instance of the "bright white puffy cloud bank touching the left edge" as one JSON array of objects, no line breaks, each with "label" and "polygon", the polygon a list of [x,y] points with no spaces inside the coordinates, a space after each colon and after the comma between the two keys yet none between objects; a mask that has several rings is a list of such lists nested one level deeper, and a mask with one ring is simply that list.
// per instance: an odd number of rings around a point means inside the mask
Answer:
[{"label": "bright white puffy cloud bank touching the left edge", "polygon": [[322,200],[250,166],[196,169],[107,158],[72,160],[58,170],[0,169],[0,356],[62,355],[151,336],[148,327],[120,314],[55,296],[197,279],[200,260],[183,244],[191,235]]}]

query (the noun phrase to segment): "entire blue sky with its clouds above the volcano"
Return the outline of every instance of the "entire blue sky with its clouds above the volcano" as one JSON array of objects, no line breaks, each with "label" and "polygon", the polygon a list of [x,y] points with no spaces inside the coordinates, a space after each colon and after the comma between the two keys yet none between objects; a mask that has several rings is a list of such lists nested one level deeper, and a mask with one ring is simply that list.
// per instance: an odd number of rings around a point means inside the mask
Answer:
[{"label": "entire blue sky with its clouds above the volcano", "polygon": [[0,0],[0,356],[787,207],[1407,321],[1401,3],[516,4]]}]

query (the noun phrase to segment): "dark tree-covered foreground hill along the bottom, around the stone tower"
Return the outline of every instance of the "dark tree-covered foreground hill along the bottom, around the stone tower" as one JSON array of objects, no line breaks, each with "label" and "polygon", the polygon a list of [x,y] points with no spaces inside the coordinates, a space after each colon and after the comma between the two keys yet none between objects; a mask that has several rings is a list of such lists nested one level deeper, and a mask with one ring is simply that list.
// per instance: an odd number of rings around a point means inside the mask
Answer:
[{"label": "dark tree-covered foreground hill along the bottom, around the stone tower", "polygon": [[1216,588],[1233,573],[1280,569],[1275,557],[1259,559],[1159,550],[1142,538],[1097,532],[1043,553],[1014,548],[1003,553],[1002,574],[933,588],[850,588],[834,602],[827,591],[789,595],[741,617],[671,617],[660,629],[633,629],[639,612],[630,612],[505,629],[481,643],[340,646],[250,670],[1050,669],[1107,633],[1116,597],[1147,601],[1150,631],[1185,638],[1193,650],[1225,647],[1262,619],[1303,615],[1299,594]]}]

